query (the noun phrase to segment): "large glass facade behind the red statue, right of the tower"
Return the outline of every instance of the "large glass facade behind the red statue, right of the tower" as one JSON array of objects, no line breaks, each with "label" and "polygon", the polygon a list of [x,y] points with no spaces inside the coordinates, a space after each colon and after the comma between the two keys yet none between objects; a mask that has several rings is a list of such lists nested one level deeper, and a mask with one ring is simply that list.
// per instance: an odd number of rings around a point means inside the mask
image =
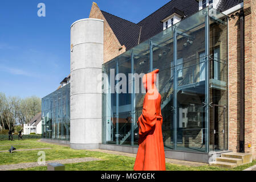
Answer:
[{"label": "large glass facade behind the red statue, right of the tower", "polygon": [[227,16],[206,7],[103,64],[103,143],[137,145],[154,69],[165,149],[227,150]]}]

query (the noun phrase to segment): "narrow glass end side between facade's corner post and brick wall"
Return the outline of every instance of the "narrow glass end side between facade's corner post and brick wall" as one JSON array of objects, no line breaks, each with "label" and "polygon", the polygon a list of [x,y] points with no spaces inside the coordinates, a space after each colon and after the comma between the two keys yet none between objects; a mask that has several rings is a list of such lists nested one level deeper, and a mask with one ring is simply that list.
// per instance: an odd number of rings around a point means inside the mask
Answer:
[{"label": "narrow glass end side between facade's corner post and brick wall", "polygon": [[209,9],[210,150],[227,150],[227,18]]}]

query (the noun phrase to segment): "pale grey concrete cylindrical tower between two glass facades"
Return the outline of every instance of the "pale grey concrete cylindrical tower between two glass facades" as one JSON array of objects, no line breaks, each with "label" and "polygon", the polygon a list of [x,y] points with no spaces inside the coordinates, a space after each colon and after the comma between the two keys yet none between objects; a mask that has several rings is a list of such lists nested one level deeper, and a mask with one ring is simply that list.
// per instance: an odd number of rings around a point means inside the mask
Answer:
[{"label": "pale grey concrete cylindrical tower between two glass facades", "polygon": [[99,148],[104,21],[81,19],[71,26],[70,146]]}]

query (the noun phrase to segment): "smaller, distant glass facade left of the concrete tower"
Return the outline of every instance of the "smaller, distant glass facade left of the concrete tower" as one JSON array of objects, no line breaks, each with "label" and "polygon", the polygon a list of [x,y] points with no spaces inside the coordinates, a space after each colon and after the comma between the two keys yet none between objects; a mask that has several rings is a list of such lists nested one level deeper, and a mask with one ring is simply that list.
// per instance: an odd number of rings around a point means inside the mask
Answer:
[{"label": "smaller, distant glass facade left of the concrete tower", "polygon": [[42,98],[42,138],[70,140],[70,84]]}]

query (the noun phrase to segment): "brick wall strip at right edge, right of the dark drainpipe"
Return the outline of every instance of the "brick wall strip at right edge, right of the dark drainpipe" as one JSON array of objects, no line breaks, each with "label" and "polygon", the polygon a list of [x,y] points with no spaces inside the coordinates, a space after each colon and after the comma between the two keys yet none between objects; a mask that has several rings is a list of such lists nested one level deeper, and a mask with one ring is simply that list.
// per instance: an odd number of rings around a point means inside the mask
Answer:
[{"label": "brick wall strip at right edge, right of the dark drainpipe", "polygon": [[[245,0],[245,152],[256,156],[256,2]],[[251,11],[251,12],[250,12]],[[251,147],[250,147],[250,146]]]}]

